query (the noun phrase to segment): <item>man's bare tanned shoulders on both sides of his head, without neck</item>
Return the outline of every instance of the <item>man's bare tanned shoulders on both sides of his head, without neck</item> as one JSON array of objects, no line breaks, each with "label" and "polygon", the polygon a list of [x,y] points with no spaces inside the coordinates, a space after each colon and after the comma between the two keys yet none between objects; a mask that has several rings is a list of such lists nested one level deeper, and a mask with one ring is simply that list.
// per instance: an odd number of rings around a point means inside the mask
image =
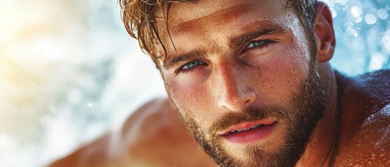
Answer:
[{"label": "man's bare tanned shoulders on both sides of his head, without neck", "polygon": [[[334,166],[390,166],[390,71],[336,73],[340,113]],[[308,154],[307,152],[305,154]],[[216,166],[188,134],[167,99],[135,111],[112,132],[50,165]]]}]

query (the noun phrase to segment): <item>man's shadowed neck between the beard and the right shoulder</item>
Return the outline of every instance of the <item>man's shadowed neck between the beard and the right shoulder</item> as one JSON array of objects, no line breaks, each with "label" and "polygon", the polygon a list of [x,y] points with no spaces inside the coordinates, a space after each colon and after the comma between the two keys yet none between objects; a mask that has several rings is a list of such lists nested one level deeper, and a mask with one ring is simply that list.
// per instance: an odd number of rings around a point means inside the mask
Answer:
[{"label": "man's shadowed neck between the beard and the right shoulder", "polygon": [[338,143],[337,84],[329,65],[320,67],[320,77],[327,90],[327,108],[310,137],[304,154],[297,166],[331,166]]}]

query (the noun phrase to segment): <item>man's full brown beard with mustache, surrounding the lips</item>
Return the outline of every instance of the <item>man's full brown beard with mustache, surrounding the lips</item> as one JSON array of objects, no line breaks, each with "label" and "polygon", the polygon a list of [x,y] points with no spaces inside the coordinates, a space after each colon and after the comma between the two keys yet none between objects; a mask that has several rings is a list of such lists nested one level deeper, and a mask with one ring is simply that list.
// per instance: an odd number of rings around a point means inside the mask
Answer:
[{"label": "man's full brown beard with mustache, surrounding the lips", "polygon": [[[310,63],[309,76],[301,82],[299,91],[292,96],[288,107],[278,106],[250,106],[242,112],[226,113],[204,130],[193,116],[183,116],[184,123],[204,152],[220,166],[295,166],[306,150],[315,125],[322,118],[325,111],[324,84],[320,81],[315,63]],[[183,113],[183,112],[179,112]],[[221,132],[241,122],[251,122],[264,118],[276,118],[284,122],[287,132],[284,141],[276,149],[269,149],[267,145],[248,145],[244,149],[245,159],[234,157],[234,152],[224,149]]]}]

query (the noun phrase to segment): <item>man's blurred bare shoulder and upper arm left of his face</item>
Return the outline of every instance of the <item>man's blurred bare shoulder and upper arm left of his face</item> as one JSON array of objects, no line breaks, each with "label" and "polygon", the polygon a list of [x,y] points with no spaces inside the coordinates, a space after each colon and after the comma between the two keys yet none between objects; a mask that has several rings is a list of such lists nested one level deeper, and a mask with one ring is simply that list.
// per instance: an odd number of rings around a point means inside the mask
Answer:
[{"label": "man's blurred bare shoulder and upper arm left of his face", "polygon": [[213,166],[166,98],[147,102],[110,132],[50,167]]}]

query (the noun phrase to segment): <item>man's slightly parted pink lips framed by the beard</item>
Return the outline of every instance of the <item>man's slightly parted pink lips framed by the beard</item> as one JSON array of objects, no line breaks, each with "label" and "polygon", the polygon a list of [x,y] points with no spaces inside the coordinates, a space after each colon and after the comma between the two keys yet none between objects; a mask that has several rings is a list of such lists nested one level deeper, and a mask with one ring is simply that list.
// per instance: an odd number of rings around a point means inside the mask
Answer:
[{"label": "man's slightly parted pink lips framed by the beard", "polygon": [[220,136],[232,143],[253,143],[266,138],[273,132],[278,122],[275,120],[259,120],[255,122],[244,122],[235,125],[224,131]]}]

